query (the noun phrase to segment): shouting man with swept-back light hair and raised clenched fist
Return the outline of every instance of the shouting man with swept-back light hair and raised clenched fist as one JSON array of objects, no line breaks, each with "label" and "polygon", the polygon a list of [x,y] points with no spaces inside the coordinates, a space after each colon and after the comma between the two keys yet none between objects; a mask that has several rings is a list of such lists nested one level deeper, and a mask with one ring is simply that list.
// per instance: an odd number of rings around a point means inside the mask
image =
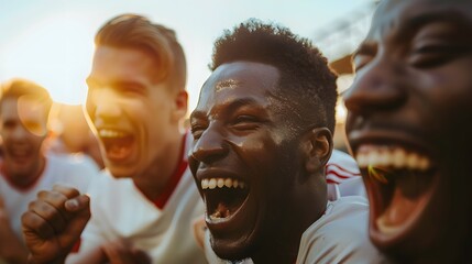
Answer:
[{"label": "shouting man with swept-back light hair and raised clenched fist", "polygon": [[[88,190],[42,193],[23,216],[34,263],[206,263],[188,169],[186,61],[175,32],[135,14],[97,33],[86,110],[107,172]],[[90,204],[89,204],[90,202]],[[90,218],[91,219],[81,233]]]}]

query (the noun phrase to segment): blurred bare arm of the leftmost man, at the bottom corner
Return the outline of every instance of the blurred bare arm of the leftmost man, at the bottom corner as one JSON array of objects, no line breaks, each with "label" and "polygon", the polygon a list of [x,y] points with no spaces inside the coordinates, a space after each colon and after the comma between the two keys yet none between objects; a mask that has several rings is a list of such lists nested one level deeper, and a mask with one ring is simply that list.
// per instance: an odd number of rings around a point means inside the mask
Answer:
[{"label": "blurred bare arm of the leftmost man, at the bottom corner", "polygon": [[11,229],[9,216],[0,196],[0,260],[7,263],[26,263],[28,249]]}]

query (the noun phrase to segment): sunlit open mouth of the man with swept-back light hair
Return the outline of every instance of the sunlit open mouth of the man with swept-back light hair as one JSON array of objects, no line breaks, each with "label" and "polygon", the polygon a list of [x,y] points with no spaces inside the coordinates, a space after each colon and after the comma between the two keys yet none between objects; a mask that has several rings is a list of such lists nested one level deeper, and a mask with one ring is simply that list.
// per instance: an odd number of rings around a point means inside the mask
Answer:
[{"label": "sunlit open mouth of the man with swept-back light hair", "polygon": [[109,160],[122,161],[131,155],[134,136],[117,130],[99,130]]}]

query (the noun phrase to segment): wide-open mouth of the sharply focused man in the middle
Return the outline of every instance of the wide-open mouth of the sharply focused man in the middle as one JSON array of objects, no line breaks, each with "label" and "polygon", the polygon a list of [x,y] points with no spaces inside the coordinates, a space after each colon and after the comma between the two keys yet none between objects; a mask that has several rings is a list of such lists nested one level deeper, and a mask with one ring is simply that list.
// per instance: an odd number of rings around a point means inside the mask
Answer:
[{"label": "wide-open mouth of the sharply focused man in the middle", "polygon": [[233,178],[201,179],[207,217],[211,222],[229,220],[244,204],[249,185]]}]

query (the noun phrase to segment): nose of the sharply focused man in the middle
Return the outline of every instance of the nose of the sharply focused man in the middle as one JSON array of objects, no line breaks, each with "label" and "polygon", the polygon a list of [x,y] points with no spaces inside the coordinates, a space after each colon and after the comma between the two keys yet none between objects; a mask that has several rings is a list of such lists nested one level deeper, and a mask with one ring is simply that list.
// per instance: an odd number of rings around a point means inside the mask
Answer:
[{"label": "nose of the sharply focused man in the middle", "polygon": [[200,138],[194,141],[190,153],[194,160],[204,164],[211,164],[221,160],[228,153],[224,134],[216,127],[209,125]]}]

